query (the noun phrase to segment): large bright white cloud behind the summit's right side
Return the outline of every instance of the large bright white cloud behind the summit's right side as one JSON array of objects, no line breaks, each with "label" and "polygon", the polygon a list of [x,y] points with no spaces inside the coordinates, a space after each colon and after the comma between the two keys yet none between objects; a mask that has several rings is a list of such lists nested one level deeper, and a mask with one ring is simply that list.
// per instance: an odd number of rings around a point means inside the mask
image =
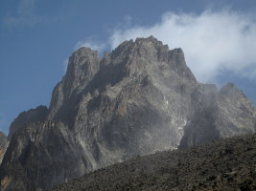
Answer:
[{"label": "large bright white cloud behind the summit's right side", "polygon": [[201,82],[213,81],[223,72],[255,78],[254,18],[255,15],[230,10],[201,14],[166,12],[152,26],[117,27],[107,43],[114,49],[124,40],[154,35],[170,49],[182,48],[188,66]]}]

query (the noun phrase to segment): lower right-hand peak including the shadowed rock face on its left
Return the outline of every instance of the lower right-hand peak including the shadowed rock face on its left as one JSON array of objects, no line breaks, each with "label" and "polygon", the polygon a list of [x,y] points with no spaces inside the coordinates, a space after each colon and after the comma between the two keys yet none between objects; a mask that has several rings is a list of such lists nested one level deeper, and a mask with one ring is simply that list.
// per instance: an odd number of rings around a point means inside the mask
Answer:
[{"label": "lower right-hand peak including the shadowed rock face on its left", "polygon": [[198,109],[186,126],[179,147],[255,132],[255,106],[242,91],[232,83],[223,86],[220,92],[207,89],[197,100]]}]

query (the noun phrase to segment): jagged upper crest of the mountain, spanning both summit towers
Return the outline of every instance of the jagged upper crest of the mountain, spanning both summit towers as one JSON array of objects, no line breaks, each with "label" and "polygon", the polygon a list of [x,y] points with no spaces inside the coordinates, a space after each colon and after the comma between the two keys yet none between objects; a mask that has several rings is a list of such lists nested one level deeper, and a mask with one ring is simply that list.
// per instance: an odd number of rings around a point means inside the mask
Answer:
[{"label": "jagged upper crest of the mountain, spanning both summit towers", "polygon": [[167,45],[152,36],[137,38],[134,42],[125,41],[107,57],[100,59],[97,51],[90,48],[81,48],[70,56],[67,72],[54,90],[49,119],[61,118],[70,123],[67,118],[77,113],[70,110],[70,104],[76,104],[81,95],[101,92],[108,85],[129,83],[131,79],[142,80],[146,77],[151,82],[165,80],[168,86],[169,75],[172,75],[172,80],[182,77],[197,83],[185,63],[182,50],[170,51]]}]

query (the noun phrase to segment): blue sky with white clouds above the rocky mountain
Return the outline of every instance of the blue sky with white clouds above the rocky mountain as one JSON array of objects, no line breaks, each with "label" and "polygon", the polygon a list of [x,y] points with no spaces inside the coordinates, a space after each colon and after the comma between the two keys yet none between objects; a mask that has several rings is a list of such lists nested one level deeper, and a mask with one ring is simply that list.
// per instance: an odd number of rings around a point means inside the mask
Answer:
[{"label": "blue sky with white clouds above the rocky mountain", "polygon": [[233,81],[256,102],[255,12],[255,0],[1,0],[0,130],[49,105],[76,48],[150,34],[181,47],[199,81]]}]

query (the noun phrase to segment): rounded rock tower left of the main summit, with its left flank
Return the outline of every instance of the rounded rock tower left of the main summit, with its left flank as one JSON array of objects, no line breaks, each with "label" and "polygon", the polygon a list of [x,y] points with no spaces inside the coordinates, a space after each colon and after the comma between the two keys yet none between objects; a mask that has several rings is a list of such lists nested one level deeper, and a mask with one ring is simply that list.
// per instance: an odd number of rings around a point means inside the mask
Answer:
[{"label": "rounded rock tower left of the main summit, with its left flank", "polygon": [[[98,52],[90,48],[82,47],[72,53],[66,74],[53,91],[48,119],[59,116],[66,118],[70,114],[67,112],[70,102],[76,101],[76,96],[81,94],[94,75],[99,72],[100,60]],[[74,103],[71,104],[74,105]]]}]

